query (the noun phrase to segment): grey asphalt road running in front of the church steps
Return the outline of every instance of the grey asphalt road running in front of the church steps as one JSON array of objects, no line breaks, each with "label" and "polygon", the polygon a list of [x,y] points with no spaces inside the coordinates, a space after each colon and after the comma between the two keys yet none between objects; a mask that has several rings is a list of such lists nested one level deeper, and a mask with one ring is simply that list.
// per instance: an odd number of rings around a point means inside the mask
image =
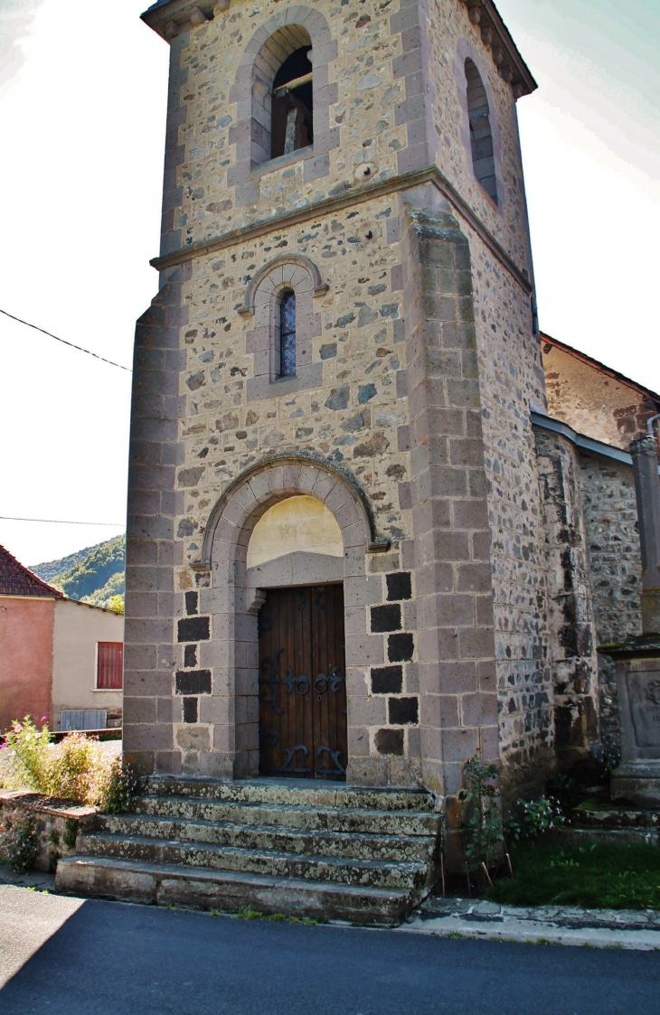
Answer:
[{"label": "grey asphalt road running in front of the church steps", "polygon": [[653,952],[447,940],[3,892],[11,911],[7,920],[0,915],[0,950],[14,964],[0,991],[2,1015],[660,1013],[660,955]]}]

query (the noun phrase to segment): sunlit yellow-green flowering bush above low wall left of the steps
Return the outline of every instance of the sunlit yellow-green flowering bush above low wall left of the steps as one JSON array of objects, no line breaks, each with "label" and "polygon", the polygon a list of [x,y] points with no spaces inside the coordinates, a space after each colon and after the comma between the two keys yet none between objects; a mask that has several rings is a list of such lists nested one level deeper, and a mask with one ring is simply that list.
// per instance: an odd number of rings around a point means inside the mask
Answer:
[{"label": "sunlit yellow-green flowering bush above low wall left of the steps", "polygon": [[137,780],[121,757],[109,758],[98,741],[83,733],[69,733],[59,745],[51,739],[45,719],[41,730],[29,717],[12,723],[2,754],[13,789],[27,787],[110,813],[128,808]]}]

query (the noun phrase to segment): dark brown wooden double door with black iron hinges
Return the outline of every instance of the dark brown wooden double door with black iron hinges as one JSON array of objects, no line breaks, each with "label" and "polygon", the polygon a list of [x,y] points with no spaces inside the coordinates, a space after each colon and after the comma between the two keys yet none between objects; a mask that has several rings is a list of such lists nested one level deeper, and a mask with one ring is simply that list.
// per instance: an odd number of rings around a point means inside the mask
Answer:
[{"label": "dark brown wooden double door with black iron hinges", "polygon": [[273,589],[259,611],[259,770],[345,779],[341,586]]}]

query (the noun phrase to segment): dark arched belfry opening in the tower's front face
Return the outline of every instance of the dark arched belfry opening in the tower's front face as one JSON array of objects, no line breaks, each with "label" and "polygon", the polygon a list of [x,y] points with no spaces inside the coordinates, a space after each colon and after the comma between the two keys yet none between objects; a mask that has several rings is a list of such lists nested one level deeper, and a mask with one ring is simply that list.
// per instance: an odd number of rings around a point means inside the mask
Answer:
[{"label": "dark arched belfry opening in the tower's front face", "polygon": [[278,158],[314,142],[311,46],[290,53],[273,81],[270,157]]}]

